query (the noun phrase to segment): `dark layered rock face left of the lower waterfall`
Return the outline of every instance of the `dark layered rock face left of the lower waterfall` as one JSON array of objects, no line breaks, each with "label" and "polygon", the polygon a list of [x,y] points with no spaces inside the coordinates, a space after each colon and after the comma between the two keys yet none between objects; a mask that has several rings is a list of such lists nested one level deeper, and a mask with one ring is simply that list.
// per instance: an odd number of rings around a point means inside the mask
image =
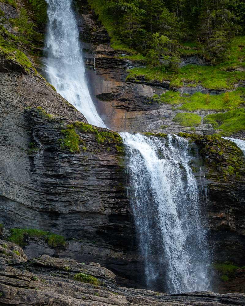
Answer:
[{"label": "dark layered rock face left of the lower waterfall", "polygon": [[28,257],[96,260],[136,278],[123,150],[79,130],[80,152],[61,150],[62,130],[75,121],[86,124],[83,115],[17,63],[1,58],[1,71],[1,223],[51,231],[69,241],[66,249],[30,241]]}]

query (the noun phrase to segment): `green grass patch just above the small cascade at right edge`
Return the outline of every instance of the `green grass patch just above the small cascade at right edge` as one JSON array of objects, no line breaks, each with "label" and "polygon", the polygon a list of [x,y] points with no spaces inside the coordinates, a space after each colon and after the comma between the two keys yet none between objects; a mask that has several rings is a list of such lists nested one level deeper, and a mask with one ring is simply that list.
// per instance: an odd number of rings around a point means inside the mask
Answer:
[{"label": "green grass patch just above the small cascade at right edge", "polygon": [[245,109],[239,108],[226,113],[210,114],[203,119],[204,123],[210,123],[214,129],[221,129],[221,135],[229,136],[233,133],[245,130]]}]

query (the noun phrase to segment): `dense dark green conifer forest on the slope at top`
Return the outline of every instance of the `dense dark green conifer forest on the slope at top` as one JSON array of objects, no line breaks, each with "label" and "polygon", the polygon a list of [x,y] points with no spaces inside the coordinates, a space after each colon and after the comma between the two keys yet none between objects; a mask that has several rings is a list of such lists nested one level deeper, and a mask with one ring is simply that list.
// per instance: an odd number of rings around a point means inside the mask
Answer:
[{"label": "dense dark green conifer forest on the slope at top", "polygon": [[123,43],[151,65],[162,55],[196,47],[212,63],[223,60],[229,40],[244,31],[240,0],[89,0],[115,44]]}]

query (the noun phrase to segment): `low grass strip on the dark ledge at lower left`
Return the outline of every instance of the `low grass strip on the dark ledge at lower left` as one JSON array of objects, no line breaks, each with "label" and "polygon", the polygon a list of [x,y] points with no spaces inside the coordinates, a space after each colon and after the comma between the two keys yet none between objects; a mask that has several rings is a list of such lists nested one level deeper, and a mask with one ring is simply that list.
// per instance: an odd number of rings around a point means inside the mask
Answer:
[{"label": "low grass strip on the dark ledge at lower left", "polygon": [[25,245],[24,240],[25,236],[30,238],[39,237],[45,239],[47,244],[51,247],[57,246],[65,246],[66,241],[63,236],[56,235],[50,232],[45,232],[43,230],[36,230],[36,229],[10,229],[11,236],[8,238],[10,242],[13,242],[18,245]]}]

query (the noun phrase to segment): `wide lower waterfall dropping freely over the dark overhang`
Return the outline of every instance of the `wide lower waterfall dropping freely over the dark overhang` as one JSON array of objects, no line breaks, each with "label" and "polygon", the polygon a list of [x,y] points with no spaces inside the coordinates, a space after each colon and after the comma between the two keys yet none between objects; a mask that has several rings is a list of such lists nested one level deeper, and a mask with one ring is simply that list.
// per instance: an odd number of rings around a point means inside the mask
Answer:
[{"label": "wide lower waterfall dropping freely over the dark overhang", "polygon": [[164,142],[140,134],[121,136],[148,288],[165,278],[170,293],[207,290],[207,233],[188,165],[188,141],[171,135]]}]

